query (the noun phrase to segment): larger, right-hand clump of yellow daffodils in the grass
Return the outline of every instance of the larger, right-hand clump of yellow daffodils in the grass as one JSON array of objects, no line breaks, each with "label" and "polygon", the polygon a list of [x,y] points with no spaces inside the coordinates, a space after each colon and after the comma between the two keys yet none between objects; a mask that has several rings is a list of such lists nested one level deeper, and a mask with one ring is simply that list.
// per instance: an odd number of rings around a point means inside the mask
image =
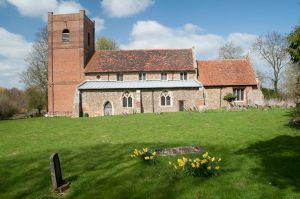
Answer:
[{"label": "larger, right-hand clump of yellow daffodils in the grass", "polygon": [[219,173],[221,158],[215,158],[204,153],[201,158],[187,159],[185,157],[178,159],[176,163],[169,162],[175,170],[182,169],[184,173],[192,176],[215,176]]}]

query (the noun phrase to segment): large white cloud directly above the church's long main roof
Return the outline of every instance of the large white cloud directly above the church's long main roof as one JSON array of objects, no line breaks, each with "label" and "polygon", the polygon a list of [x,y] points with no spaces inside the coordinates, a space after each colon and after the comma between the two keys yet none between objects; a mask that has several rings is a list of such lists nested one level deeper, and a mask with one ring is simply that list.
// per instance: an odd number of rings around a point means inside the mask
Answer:
[{"label": "large white cloud directly above the church's long main roof", "polygon": [[233,41],[248,52],[256,35],[232,33],[228,37],[217,34],[202,34],[201,28],[188,23],[181,28],[170,28],[157,21],[138,21],[134,24],[130,42],[123,49],[141,48],[191,48],[195,47],[199,59],[215,59],[225,42]]}]

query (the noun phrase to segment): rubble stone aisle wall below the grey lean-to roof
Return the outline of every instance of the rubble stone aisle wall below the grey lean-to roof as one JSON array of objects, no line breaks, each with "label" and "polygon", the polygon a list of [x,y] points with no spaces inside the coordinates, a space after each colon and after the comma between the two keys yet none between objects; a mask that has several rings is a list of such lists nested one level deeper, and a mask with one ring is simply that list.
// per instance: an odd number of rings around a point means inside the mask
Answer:
[{"label": "rubble stone aisle wall below the grey lean-to roof", "polygon": [[91,117],[104,115],[104,104],[112,104],[112,114],[152,113],[179,111],[179,100],[184,101],[185,108],[200,108],[204,106],[203,90],[199,89],[169,89],[171,106],[160,105],[160,95],[163,90],[128,90],[133,98],[133,107],[122,107],[122,90],[81,91],[82,110]]}]

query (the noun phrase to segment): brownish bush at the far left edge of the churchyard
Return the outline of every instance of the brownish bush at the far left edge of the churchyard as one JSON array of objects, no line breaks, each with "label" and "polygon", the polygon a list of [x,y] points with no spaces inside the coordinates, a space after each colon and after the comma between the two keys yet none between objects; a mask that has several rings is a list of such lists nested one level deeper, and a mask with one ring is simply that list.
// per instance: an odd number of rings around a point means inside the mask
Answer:
[{"label": "brownish bush at the far left edge of the churchyard", "polygon": [[6,95],[0,95],[0,119],[12,117],[17,113],[18,108],[14,101],[10,100]]}]

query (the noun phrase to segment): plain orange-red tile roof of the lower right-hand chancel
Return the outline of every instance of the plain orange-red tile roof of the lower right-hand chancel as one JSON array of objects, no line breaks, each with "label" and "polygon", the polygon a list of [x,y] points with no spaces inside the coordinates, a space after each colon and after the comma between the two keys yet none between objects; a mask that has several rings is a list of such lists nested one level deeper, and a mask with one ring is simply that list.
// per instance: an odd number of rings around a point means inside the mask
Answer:
[{"label": "plain orange-red tile roof of the lower right-hand chancel", "polygon": [[197,64],[198,80],[204,86],[257,85],[247,59],[201,60]]}]

